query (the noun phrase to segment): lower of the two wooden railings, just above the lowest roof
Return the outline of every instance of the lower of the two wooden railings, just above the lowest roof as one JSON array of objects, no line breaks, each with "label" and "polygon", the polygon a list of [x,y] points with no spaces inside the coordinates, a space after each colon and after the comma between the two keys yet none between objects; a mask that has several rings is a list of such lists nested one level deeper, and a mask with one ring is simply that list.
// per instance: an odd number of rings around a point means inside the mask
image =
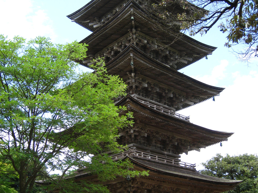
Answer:
[{"label": "lower of the two wooden railings, just above the lowest roof", "polygon": [[186,162],[181,162],[178,159],[166,158],[163,156],[158,156],[158,155],[154,155],[151,153],[146,153],[146,152],[142,152],[142,151],[138,151],[138,150],[127,150],[122,153],[112,155],[111,158],[112,158],[112,160],[117,160],[117,159],[122,159],[126,156],[132,157],[132,158],[136,157],[136,158],[141,158],[141,159],[145,159],[145,160],[151,160],[154,162],[165,163],[167,165],[173,165],[173,166],[177,166],[177,167],[183,167],[183,168],[188,168],[191,170],[196,170],[195,164],[189,164]]}]

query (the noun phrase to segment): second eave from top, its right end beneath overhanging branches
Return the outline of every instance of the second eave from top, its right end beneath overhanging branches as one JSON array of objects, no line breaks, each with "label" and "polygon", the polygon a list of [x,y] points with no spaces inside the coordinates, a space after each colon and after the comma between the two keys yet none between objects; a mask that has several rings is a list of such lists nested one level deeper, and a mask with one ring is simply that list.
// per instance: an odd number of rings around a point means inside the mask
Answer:
[{"label": "second eave from top, its right end beneath overhanging branches", "polygon": [[139,11],[141,7],[131,0],[112,19],[80,42],[89,44],[88,54],[99,52],[128,33],[128,29],[133,28],[131,21],[131,8],[133,9],[134,14],[135,29],[138,27],[141,28],[140,31],[142,33],[152,38],[162,40],[166,37],[170,39],[169,41],[171,43],[173,42],[170,47],[177,50],[179,53],[187,53],[195,56],[195,59],[192,62],[180,67],[180,69],[200,60],[208,54],[211,54],[216,49],[216,47],[203,44],[183,34],[181,38],[175,40],[174,36],[167,34],[163,30],[154,30],[153,26],[155,26],[155,23],[149,18],[144,17],[142,12]]}]

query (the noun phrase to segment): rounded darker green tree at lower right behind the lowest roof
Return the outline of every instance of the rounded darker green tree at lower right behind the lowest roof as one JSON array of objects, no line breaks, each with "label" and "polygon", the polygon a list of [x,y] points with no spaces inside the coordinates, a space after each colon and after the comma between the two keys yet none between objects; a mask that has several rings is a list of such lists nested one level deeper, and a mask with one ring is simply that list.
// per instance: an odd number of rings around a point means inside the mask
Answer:
[{"label": "rounded darker green tree at lower right behind the lowest roof", "polygon": [[258,156],[243,154],[239,156],[223,157],[217,154],[215,157],[202,163],[205,167],[201,174],[230,180],[243,180],[233,193],[257,193],[258,192]]}]

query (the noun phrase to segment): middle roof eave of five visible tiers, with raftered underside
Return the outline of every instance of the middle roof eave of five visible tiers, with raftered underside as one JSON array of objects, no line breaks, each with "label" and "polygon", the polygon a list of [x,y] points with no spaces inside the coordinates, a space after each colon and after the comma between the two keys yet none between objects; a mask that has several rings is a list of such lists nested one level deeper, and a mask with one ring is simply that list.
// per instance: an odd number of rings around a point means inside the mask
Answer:
[{"label": "middle roof eave of five visible tiers, with raftered underside", "polygon": [[[134,82],[136,83],[137,78],[141,78],[141,80],[148,79],[148,81],[154,81],[157,87],[169,88],[171,92],[181,94],[185,99],[182,102],[182,108],[203,102],[219,95],[224,90],[224,88],[204,84],[173,70],[163,63],[150,58],[132,44],[117,55],[116,58],[108,62],[106,67],[109,74],[119,74],[124,81],[130,78],[131,73],[135,73]],[[136,86],[136,89],[138,87]],[[176,108],[176,110],[180,109]]]}]

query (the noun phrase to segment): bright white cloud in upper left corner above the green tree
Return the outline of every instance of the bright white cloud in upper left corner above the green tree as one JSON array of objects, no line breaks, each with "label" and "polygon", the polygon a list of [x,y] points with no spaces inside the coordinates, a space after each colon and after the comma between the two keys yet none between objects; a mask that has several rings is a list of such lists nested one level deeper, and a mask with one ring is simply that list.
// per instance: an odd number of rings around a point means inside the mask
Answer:
[{"label": "bright white cloud in upper left corner above the green tree", "polygon": [[31,0],[0,0],[0,4],[1,34],[9,38],[19,35],[27,39],[36,36],[56,37],[46,12],[34,7]]}]

